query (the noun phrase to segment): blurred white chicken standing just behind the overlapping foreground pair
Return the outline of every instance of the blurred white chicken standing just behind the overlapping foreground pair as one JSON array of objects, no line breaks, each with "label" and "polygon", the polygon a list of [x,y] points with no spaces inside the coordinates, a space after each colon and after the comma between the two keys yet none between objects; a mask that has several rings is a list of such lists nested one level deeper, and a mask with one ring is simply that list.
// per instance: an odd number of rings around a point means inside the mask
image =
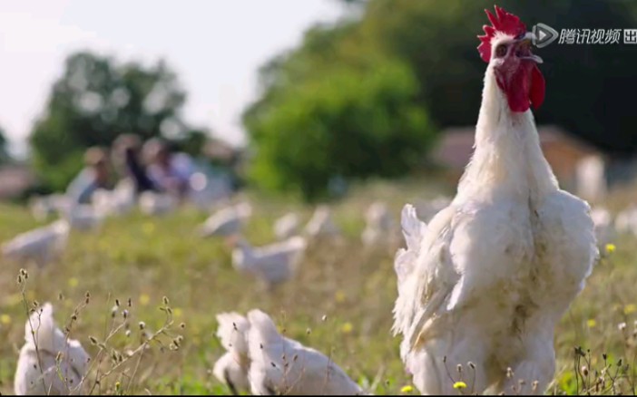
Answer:
[{"label": "blurred white chicken standing just behind the overlapping foreground pair", "polygon": [[243,237],[233,240],[232,266],[241,273],[255,276],[268,289],[295,275],[303,257],[305,237],[290,237],[269,246],[253,248]]}]

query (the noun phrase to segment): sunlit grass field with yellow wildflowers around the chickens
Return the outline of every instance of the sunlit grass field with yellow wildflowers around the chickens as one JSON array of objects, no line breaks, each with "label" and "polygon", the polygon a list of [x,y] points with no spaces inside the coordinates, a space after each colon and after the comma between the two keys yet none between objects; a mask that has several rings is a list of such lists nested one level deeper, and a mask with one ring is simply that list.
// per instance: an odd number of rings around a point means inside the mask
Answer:
[{"label": "sunlit grass field with yellow wildflowers around the chickens", "polygon": [[[22,285],[16,281],[20,266],[1,262],[0,392],[13,393],[18,350],[24,342],[25,305],[49,301],[61,326],[69,324],[73,309],[80,307],[71,337],[79,339],[93,357],[93,393],[230,393],[211,374],[222,353],[214,336],[215,315],[251,308],[272,315],[289,337],[331,354],[350,377],[373,386],[370,392],[417,393],[404,388],[411,384],[410,378],[398,356],[399,338],[390,334],[397,294],[392,267],[396,247],[363,249],[359,236],[363,213],[372,201],[387,200],[397,219],[405,202],[433,197],[432,190],[417,183],[358,189],[334,207],[344,237],[311,244],[296,279],[272,294],[263,293],[253,280],[232,269],[222,241],[196,236],[195,228],[206,214],[189,208],[162,218],[138,213],[109,218],[96,233],[73,231],[63,259],[44,269],[28,267],[29,277]],[[255,245],[273,240],[272,221],[290,209],[299,210],[304,219],[311,214],[311,208],[294,203],[258,200],[250,194],[249,198],[255,213],[245,235]],[[25,208],[0,206],[0,241],[36,225]],[[631,237],[620,237],[615,246],[595,267],[557,330],[557,371],[549,392],[635,390],[637,244]],[[87,291],[90,300],[85,305]],[[163,296],[169,298],[172,317],[167,334],[122,362],[118,353],[125,357],[141,344],[138,322],[145,322],[144,331],[153,333],[170,316],[160,310],[165,306]],[[113,317],[116,299],[122,307]],[[122,309],[129,311],[125,320]],[[123,322],[130,324],[131,334],[126,336],[122,325],[104,343]],[[182,339],[177,339],[179,335]],[[90,336],[98,344],[92,344]],[[576,358],[575,348],[580,346],[585,357]],[[586,374],[582,378],[574,368],[583,365],[587,370],[579,370]],[[595,385],[600,376],[604,382]]]}]

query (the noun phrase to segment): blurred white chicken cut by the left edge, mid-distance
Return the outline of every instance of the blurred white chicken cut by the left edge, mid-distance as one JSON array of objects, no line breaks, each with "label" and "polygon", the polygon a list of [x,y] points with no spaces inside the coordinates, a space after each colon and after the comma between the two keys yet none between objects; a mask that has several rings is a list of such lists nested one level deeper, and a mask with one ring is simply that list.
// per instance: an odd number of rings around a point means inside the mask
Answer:
[{"label": "blurred white chicken cut by the left edge, mid-distance", "polygon": [[2,247],[3,256],[20,262],[33,261],[43,267],[64,252],[69,231],[66,220],[56,220],[51,225],[27,231],[6,242]]}]

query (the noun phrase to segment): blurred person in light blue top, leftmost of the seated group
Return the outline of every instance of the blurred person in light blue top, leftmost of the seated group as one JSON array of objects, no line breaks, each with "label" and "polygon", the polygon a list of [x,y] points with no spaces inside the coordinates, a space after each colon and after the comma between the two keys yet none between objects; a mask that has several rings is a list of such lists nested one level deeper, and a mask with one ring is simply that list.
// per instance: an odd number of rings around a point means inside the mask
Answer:
[{"label": "blurred person in light blue top, leftmost of the seated group", "polygon": [[93,147],[84,153],[84,168],[66,189],[66,195],[75,204],[91,202],[93,192],[108,189],[111,184],[111,172],[106,150]]}]

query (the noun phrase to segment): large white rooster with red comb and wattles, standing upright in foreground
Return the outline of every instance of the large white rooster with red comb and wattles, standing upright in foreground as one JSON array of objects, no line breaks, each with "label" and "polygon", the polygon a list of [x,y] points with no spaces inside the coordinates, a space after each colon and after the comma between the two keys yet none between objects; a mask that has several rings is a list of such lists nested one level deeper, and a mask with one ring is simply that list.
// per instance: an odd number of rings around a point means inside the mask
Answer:
[{"label": "large white rooster with red comb and wattles, standing upright in foreground", "polygon": [[540,149],[529,107],[543,102],[544,78],[532,34],[495,12],[480,37],[489,64],[456,198],[426,228],[404,212],[393,328],[423,394],[456,392],[447,368],[468,362],[467,392],[544,392],[555,326],[599,255],[588,204],[558,188]]}]

